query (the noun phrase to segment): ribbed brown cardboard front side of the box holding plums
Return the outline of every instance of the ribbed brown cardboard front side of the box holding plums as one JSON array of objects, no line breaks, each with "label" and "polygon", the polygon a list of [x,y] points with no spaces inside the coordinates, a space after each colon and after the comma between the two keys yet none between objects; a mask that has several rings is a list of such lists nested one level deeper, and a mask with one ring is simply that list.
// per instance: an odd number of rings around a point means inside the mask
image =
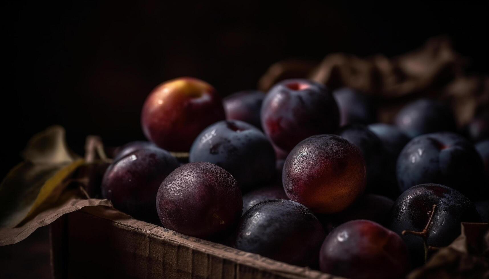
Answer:
[{"label": "ribbed brown cardboard front side of the box holding plums", "polygon": [[309,268],[135,220],[113,208],[67,215],[68,278],[317,278]]}]

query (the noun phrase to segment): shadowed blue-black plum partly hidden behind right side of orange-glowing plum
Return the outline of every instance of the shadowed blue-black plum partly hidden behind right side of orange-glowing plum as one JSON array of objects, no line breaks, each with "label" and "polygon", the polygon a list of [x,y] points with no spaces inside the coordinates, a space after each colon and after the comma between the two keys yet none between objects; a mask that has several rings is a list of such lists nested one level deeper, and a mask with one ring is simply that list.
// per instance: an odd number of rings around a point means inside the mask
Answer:
[{"label": "shadowed blue-black plum partly hidden behind right side of orange-glowing plum", "polygon": [[396,185],[395,169],[387,166],[387,151],[378,136],[363,125],[347,125],[338,135],[358,147],[367,166],[367,189],[369,193],[396,198],[399,190]]}]

